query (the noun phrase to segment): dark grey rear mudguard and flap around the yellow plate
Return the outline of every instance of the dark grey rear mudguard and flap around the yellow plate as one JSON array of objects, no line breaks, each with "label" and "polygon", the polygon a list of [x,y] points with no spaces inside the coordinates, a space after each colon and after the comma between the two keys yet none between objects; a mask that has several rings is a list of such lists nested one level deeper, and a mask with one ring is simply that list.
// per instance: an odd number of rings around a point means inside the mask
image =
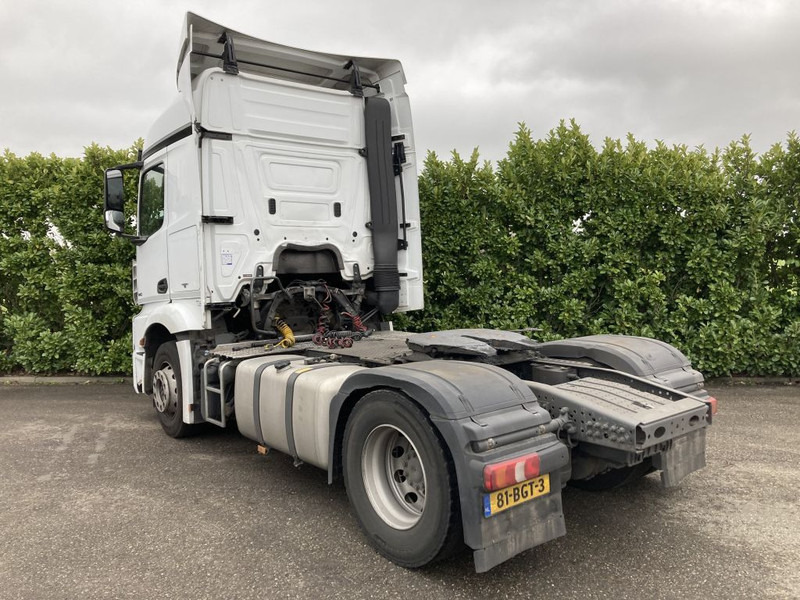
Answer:
[{"label": "dark grey rear mudguard and flap around the yellow plate", "polygon": [[[397,390],[418,403],[441,435],[455,467],[464,542],[474,551],[476,571],[488,571],[566,533],[561,488],[569,478],[569,450],[545,431],[550,415],[528,386],[492,365],[431,360],[351,375],[331,403],[330,480],[341,465],[349,411],[359,397],[376,388]],[[484,466],[530,452],[539,454],[540,472],[550,474],[550,493],[485,517]]]}]

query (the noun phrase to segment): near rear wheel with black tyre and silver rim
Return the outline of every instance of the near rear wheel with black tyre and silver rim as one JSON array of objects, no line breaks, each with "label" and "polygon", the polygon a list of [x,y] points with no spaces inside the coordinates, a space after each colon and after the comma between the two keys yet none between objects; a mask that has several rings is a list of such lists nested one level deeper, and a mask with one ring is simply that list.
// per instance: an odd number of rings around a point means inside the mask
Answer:
[{"label": "near rear wheel with black tyre and silver rim", "polygon": [[347,421],[343,453],[347,497],[378,552],[418,568],[462,546],[452,460],[408,398],[389,390],[364,396]]}]

